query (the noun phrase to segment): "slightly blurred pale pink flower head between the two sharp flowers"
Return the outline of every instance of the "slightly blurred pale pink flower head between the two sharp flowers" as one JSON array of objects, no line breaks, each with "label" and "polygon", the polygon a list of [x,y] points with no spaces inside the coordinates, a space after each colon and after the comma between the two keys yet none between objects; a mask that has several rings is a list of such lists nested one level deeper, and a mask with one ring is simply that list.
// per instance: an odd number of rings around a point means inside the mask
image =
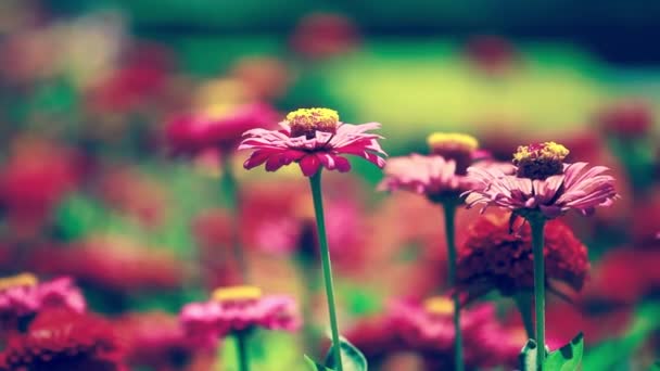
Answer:
[{"label": "slightly blurred pale pink flower head between the two sharp flowers", "polygon": [[[490,161],[475,162],[484,156],[478,150],[473,137],[461,133],[436,132],[429,137],[431,155],[411,154],[391,158],[385,166],[385,178],[380,190],[405,190],[426,195],[433,202],[447,199],[458,200],[461,193],[474,186],[474,180],[466,176],[468,166],[494,166]],[[502,165],[503,171],[512,170],[511,165]]]}]

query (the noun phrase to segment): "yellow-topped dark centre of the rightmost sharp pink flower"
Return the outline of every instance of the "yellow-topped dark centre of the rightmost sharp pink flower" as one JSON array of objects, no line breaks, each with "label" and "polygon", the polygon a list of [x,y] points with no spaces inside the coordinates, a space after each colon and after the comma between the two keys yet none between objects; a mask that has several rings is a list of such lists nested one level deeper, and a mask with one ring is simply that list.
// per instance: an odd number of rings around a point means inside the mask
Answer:
[{"label": "yellow-topped dark centre of the rightmost sharp pink flower", "polygon": [[518,177],[546,179],[563,172],[563,159],[570,151],[555,142],[520,145],[513,154],[513,165],[518,166]]}]

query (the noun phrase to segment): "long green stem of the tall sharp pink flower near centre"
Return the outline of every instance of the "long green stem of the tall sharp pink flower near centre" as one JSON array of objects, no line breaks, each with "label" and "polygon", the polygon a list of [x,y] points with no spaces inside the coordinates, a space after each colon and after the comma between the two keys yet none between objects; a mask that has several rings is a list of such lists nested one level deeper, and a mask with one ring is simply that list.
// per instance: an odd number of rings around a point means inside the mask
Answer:
[{"label": "long green stem of the tall sharp pink flower near centre", "polygon": [[321,266],[323,270],[323,283],[326,285],[326,296],[328,297],[328,311],[330,315],[330,330],[332,332],[332,351],[337,371],[343,371],[342,356],[340,353],[339,327],[337,324],[337,312],[334,307],[334,287],[332,284],[332,266],[330,263],[330,251],[328,250],[328,239],[326,235],[326,220],[323,217],[323,199],[321,195],[321,170],[319,169],[309,178],[312,187],[312,197],[314,199],[314,212],[316,214],[316,227],[318,230],[318,241],[321,248]]}]

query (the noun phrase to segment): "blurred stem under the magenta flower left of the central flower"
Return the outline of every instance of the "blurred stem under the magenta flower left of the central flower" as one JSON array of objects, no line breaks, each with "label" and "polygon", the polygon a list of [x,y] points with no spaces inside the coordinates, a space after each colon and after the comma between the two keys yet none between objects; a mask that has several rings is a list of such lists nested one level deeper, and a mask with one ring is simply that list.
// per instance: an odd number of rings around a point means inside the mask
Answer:
[{"label": "blurred stem under the magenta flower left of the central flower", "polygon": [[243,254],[243,248],[241,246],[241,236],[239,234],[239,187],[236,175],[233,174],[231,159],[232,156],[230,154],[223,155],[224,175],[221,186],[223,190],[225,191],[227,205],[231,212],[231,247],[233,251],[233,258],[239,267],[241,280],[243,283],[248,283],[248,263],[245,261],[245,255]]}]

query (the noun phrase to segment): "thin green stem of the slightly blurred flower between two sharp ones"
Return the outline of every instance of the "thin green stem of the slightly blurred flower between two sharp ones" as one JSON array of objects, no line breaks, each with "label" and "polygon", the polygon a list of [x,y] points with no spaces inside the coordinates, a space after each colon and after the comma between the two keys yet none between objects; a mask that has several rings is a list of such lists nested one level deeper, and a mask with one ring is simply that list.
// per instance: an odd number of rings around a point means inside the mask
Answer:
[{"label": "thin green stem of the slightly blurred flower between two sharp ones", "polygon": [[443,204],[445,212],[445,235],[447,239],[447,253],[449,264],[449,286],[454,290],[454,356],[455,356],[455,370],[464,371],[465,363],[462,358],[462,334],[460,332],[460,298],[458,292],[455,290],[456,284],[456,232],[455,232],[455,219],[456,219],[456,204],[453,202],[445,202]]}]

